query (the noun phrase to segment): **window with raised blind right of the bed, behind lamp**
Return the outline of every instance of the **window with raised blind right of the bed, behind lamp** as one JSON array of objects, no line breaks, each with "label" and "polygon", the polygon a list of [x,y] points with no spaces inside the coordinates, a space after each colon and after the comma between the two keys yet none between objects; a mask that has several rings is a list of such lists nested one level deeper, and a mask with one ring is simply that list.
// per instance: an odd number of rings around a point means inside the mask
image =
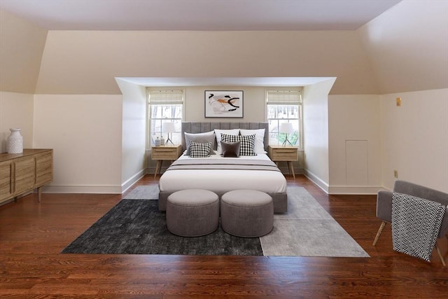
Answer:
[{"label": "window with raised blind right of the bed, behind lamp", "polygon": [[[288,137],[293,146],[302,148],[302,92],[300,90],[267,90],[269,144],[283,144]],[[292,123],[293,133],[279,132],[282,123]]]}]

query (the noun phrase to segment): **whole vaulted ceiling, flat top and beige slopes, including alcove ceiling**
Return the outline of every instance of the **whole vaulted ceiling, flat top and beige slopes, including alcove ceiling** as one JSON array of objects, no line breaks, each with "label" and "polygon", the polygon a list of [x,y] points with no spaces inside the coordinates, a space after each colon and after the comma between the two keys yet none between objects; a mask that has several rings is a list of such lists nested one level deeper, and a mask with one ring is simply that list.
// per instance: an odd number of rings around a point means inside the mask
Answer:
[{"label": "whole vaulted ceiling, flat top and beige slopes, including alcove ceiling", "polygon": [[447,15],[444,0],[0,0],[0,90],[446,88]]}]

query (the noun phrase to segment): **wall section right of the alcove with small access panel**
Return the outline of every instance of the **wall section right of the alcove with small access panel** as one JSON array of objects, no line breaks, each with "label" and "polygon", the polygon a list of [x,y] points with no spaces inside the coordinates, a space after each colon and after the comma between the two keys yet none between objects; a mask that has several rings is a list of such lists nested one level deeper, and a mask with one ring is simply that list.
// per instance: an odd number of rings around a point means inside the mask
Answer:
[{"label": "wall section right of the alcove with small access panel", "polygon": [[379,96],[328,96],[328,126],[329,193],[377,193],[381,189]]}]

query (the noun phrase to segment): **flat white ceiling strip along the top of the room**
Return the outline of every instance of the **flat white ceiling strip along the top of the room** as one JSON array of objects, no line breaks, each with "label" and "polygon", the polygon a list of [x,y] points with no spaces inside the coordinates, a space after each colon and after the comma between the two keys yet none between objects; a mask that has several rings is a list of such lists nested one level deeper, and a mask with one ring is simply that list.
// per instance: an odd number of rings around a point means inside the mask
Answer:
[{"label": "flat white ceiling strip along the top of the room", "polygon": [[400,0],[0,0],[50,30],[353,30]]}]

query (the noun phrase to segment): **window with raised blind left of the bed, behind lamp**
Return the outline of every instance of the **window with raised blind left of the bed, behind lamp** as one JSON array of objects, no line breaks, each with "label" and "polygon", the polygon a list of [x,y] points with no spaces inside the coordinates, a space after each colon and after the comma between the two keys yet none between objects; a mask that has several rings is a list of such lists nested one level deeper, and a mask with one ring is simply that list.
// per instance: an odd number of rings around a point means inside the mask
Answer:
[{"label": "window with raised blind left of the bed, behind lamp", "polygon": [[[149,90],[148,104],[150,146],[157,138],[167,141],[168,134],[174,144],[181,144],[183,90]],[[162,123],[174,123],[175,132],[162,132]]]}]

